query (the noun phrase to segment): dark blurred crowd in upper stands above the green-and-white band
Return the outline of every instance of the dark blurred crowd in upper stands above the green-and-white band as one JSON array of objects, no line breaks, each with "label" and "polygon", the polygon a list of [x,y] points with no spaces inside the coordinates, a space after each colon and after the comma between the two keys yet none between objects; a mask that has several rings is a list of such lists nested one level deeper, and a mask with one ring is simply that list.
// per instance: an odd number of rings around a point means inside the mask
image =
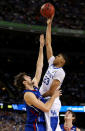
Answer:
[{"label": "dark blurred crowd in upper stands above the green-and-white band", "polygon": [[45,25],[40,7],[51,2],[56,9],[53,25],[70,29],[85,29],[84,0],[1,0],[0,20],[24,24]]}]

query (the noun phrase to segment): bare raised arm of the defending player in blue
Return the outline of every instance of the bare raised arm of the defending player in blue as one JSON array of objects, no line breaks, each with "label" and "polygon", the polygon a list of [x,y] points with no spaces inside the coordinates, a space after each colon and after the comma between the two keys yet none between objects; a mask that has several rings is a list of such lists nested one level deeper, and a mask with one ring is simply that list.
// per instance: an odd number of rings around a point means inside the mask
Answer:
[{"label": "bare raised arm of the defending player in blue", "polygon": [[43,68],[43,47],[44,47],[44,35],[40,35],[40,49],[39,49],[39,56],[36,64],[36,73],[33,79],[34,85],[38,86],[38,83],[41,78],[42,68]]}]

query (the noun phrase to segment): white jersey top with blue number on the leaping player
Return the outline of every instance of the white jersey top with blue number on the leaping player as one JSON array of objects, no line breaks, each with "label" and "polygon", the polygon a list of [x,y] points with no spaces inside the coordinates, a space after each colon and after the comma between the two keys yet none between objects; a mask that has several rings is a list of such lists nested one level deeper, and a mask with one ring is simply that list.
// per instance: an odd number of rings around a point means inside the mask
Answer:
[{"label": "white jersey top with blue number on the leaping player", "polygon": [[40,93],[42,95],[50,89],[53,80],[59,80],[60,86],[64,80],[65,72],[62,67],[57,68],[53,65],[54,60],[55,60],[55,57],[52,56],[48,61],[49,67],[44,75],[42,85],[40,87]]}]

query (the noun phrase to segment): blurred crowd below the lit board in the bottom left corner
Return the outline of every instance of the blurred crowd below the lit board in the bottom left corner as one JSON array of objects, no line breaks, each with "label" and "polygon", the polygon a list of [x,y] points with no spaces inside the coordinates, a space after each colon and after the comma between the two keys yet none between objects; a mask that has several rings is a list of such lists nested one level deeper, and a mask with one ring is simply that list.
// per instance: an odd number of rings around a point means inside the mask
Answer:
[{"label": "blurred crowd below the lit board in the bottom left corner", "polygon": [[0,111],[0,131],[24,131],[25,113]]}]

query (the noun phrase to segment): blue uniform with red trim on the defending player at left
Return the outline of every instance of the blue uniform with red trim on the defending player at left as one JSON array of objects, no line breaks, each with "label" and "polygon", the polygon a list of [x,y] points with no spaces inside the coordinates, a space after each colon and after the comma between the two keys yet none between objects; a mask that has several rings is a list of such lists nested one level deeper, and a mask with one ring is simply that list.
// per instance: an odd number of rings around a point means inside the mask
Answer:
[{"label": "blue uniform with red trim on the defending player at left", "polygon": [[[25,92],[32,92],[38,99],[45,103],[38,88],[34,87],[34,90],[24,90]],[[44,113],[34,106],[28,106],[26,103],[25,105],[27,111],[25,131],[46,131]]]}]

